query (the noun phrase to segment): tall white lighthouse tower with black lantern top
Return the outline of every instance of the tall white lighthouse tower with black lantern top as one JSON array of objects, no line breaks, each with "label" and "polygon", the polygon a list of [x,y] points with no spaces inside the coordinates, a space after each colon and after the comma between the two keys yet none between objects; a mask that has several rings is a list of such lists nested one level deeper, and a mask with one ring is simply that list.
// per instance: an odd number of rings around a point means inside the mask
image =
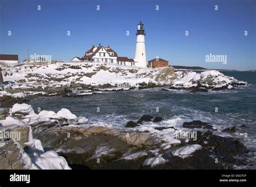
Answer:
[{"label": "tall white lighthouse tower with black lantern top", "polygon": [[138,67],[147,67],[146,60],[146,49],[145,49],[145,29],[144,24],[140,22],[138,24],[138,29],[136,32],[137,41],[136,41],[136,51],[134,61],[137,61]]}]

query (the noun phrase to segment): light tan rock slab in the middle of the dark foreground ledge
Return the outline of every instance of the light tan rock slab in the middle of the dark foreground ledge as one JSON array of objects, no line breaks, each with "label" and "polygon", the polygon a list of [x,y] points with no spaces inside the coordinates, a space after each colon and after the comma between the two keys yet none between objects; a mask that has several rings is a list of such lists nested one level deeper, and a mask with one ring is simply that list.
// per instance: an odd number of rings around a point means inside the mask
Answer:
[{"label": "light tan rock slab in the middle of the dark foreground ledge", "polygon": [[121,140],[129,146],[136,147],[157,146],[160,144],[160,142],[154,140],[151,135],[142,133],[126,133]]}]

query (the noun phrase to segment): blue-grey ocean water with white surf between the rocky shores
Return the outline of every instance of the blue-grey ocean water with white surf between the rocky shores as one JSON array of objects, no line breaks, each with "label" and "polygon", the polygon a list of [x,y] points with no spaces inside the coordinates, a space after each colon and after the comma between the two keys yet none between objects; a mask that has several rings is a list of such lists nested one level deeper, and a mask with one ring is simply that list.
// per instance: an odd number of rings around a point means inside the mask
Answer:
[{"label": "blue-grey ocean water with white surf between the rocky shores", "polygon": [[[217,128],[217,134],[235,136],[247,148],[256,150],[256,72],[222,73],[247,81],[250,86],[196,94],[161,88],[132,89],[80,97],[38,98],[27,103],[35,111],[38,107],[55,112],[67,108],[77,116],[87,117],[89,122],[111,124],[116,128],[123,128],[129,120],[137,121],[143,114],[164,117],[158,126],[179,127],[185,121],[201,120]],[[242,124],[246,128],[240,128]],[[221,133],[221,129],[232,126],[237,127],[235,134]]]}]

